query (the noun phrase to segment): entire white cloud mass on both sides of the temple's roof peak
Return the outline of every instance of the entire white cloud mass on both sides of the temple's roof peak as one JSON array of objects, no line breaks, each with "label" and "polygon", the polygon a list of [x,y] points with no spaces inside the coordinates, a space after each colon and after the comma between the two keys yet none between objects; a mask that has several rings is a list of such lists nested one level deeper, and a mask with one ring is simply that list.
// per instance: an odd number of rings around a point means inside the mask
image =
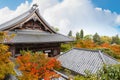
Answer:
[{"label": "entire white cloud mass on both sides of the temple's roof peak", "polygon": [[[15,11],[5,7],[0,9],[0,19],[8,13],[17,16],[26,11],[37,3],[41,15],[47,20],[51,26],[58,27],[60,32],[67,34],[69,30],[73,32],[83,29],[86,34],[94,34],[98,32],[100,35],[115,35],[118,30],[115,26],[120,25],[120,15],[112,13],[110,10],[96,8],[91,0],[33,0],[32,3],[27,1],[17,7]],[[1,22],[0,22],[1,23]]]}]

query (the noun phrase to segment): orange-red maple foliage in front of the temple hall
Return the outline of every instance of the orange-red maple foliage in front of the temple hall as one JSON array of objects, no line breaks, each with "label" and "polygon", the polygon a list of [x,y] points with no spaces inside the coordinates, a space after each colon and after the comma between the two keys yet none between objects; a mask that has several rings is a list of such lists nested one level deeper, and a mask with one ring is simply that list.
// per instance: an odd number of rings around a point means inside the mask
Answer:
[{"label": "orange-red maple foliage in front of the temple hall", "polygon": [[23,72],[22,80],[50,80],[53,77],[59,77],[53,69],[60,68],[60,62],[55,58],[48,58],[44,54],[30,53],[17,57],[19,69]]}]

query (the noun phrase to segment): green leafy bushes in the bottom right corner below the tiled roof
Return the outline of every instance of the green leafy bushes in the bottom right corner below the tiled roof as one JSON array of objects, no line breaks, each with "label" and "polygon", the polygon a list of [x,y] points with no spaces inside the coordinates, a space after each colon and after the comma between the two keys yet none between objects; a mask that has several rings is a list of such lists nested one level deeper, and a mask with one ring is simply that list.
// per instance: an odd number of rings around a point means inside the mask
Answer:
[{"label": "green leafy bushes in the bottom right corner below the tiled roof", "polygon": [[74,80],[120,80],[120,64],[105,65],[96,74],[78,75]]}]

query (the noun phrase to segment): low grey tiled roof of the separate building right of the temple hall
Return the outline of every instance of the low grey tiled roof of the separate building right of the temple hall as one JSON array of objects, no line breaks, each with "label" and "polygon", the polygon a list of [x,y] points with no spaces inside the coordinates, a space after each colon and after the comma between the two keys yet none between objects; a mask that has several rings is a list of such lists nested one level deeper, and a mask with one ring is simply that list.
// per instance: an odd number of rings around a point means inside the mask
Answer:
[{"label": "low grey tiled roof of the separate building right of the temple hall", "polygon": [[58,57],[62,67],[85,75],[85,70],[96,73],[103,64],[119,63],[114,58],[96,50],[73,48]]}]

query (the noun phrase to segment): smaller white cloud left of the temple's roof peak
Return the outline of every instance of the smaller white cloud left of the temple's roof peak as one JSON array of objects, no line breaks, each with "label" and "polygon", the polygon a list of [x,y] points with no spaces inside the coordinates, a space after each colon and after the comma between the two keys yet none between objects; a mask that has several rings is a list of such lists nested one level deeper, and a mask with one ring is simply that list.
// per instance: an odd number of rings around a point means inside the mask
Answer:
[{"label": "smaller white cloud left of the temple's roof peak", "polygon": [[28,1],[25,1],[25,3],[21,3],[15,11],[10,10],[8,7],[0,9],[0,24],[13,19],[14,17],[17,17],[29,8],[30,3],[28,3]]}]

